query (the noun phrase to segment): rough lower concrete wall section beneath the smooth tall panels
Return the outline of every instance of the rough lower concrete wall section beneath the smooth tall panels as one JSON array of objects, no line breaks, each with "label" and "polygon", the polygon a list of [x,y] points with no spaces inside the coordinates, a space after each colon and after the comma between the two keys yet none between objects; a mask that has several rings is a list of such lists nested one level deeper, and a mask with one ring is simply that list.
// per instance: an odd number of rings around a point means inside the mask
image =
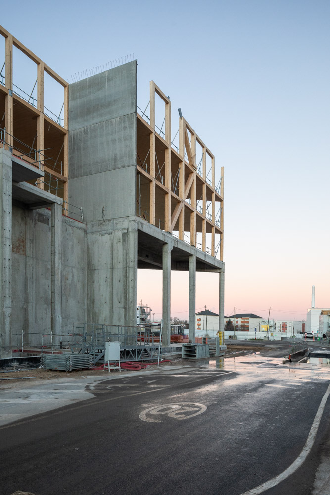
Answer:
[{"label": "rough lower concrete wall section beneath the smooth tall panels", "polygon": [[136,325],[137,236],[135,217],[89,224],[88,322]]}]

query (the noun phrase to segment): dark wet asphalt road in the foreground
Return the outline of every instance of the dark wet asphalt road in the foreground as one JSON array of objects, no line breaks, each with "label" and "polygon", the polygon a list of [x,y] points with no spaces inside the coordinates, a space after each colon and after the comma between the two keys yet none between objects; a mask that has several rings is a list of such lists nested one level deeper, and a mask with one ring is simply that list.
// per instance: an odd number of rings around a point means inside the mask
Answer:
[{"label": "dark wet asphalt road in the foreground", "polygon": [[[330,383],[327,368],[281,362],[213,359],[87,385],[92,399],[0,428],[0,494],[243,494],[299,456]],[[330,399],[306,461],[263,493],[327,495],[314,483],[329,418]]]}]

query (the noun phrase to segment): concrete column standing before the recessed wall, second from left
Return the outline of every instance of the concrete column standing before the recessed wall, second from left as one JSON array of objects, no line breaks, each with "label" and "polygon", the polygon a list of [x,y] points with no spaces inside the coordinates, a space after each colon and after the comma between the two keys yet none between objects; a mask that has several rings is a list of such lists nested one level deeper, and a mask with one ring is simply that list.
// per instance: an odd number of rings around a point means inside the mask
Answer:
[{"label": "concrete column standing before the recessed wall, second from left", "polygon": [[[62,333],[62,206],[51,205],[51,310],[50,330],[53,335]],[[53,340],[58,344],[60,338]]]}]

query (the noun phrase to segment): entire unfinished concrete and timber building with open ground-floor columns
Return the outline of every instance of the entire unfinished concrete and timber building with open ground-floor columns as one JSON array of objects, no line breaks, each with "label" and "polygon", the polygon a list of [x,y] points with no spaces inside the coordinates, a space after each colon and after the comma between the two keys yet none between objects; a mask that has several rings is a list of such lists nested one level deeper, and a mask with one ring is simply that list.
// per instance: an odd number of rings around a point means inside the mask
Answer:
[{"label": "entire unfinished concrete and timber building with open ground-floor columns", "polygon": [[[216,187],[209,148],[183,116],[172,144],[171,101],[153,81],[148,116],[139,113],[135,60],[69,84],[0,35],[1,355],[22,333],[32,342],[77,322],[134,327],[138,268],[163,273],[163,345],[171,270],[189,271],[192,341],[196,271],[219,274],[222,327],[224,172]],[[34,98],[13,82],[14,50],[35,65]],[[45,108],[46,76],[63,90],[62,116]]]}]

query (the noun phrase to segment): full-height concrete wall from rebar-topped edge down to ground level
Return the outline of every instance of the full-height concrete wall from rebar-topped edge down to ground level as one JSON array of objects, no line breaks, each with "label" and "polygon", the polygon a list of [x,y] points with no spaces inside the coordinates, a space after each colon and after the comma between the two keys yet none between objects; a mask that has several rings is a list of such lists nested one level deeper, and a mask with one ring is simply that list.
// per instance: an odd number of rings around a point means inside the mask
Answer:
[{"label": "full-height concrete wall from rebar-topped edge down to ground level", "polygon": [[69,202],[87,223],[87,321],[136,324],[136,61],[69,87]]}]

